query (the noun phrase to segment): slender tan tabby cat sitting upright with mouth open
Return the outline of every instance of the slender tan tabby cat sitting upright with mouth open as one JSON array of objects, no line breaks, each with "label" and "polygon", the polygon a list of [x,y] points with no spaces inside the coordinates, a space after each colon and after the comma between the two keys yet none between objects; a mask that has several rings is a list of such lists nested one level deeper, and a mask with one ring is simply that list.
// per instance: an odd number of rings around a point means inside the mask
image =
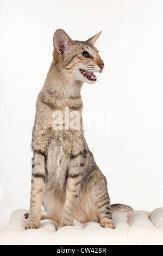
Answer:
[{"label": "slender tan tabby cat sitting upright with mouth open", "polygon": [[[83,83],[95,83],[94,72],[102,72],[104,63],[94,46],[98,33],[86,41],[74,41],[58,29],[53,37],[53,61],[45,84],[37,97],[32,137],[32,184],[26,229],[39,228],[50,218],[57,229],[79,222],[95,221],[114,228],[112,212],[131,211],[130,206],[110,205],[107,182],[97,167],[82,129],[70,129],[65,107],[78,112],[82,124]],[[64,117],[53,129],[53,113]],[[60,129],[60,126],[62,129]],[[47,216],[41,216],[41,204]]]}]

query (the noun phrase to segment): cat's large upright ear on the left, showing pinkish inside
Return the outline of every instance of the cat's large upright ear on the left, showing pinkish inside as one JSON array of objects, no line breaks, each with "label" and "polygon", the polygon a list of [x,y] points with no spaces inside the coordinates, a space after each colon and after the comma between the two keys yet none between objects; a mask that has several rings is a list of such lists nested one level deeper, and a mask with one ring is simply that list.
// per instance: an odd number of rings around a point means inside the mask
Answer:
[{"label": "cat's large upright ear on the left, showing pinkish inside", "polygon": [[63,29],[57,29],[53,36],[53,45],[55,50],[61,55],[65,56],[70,51],[73,45],[73,40]]}]

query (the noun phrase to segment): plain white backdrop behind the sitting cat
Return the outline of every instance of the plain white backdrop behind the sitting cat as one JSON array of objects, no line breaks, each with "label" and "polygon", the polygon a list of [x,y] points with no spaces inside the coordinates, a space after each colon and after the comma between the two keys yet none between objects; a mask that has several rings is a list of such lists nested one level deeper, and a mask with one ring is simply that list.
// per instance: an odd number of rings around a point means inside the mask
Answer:
[{"label": "plain white backdrop behind the sitting cat", "polygon": [[0,206],[29,209],[35,102],[52,62],[53,34],[74,40],[103,31],[105,63],[84,84],[84,111],[108,111],[108,136],[86,131],[111,203],[163,205],[163,1],[0,1]]}]

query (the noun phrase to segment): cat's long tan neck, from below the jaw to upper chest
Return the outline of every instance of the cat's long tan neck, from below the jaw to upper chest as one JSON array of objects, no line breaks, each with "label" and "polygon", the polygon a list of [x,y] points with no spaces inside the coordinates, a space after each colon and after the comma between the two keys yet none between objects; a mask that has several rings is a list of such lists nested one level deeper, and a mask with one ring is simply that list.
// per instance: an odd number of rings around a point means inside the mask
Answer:
[{"label": "cat's long tan neck, from below the jaw to upper chest", "polygon": [[53,110],[69,107],[72,111],[82,112],[81,98],[82,81],[75,81],[68,71],[60,69],[53,59],[45,84],[39,94],[38,100]]}]

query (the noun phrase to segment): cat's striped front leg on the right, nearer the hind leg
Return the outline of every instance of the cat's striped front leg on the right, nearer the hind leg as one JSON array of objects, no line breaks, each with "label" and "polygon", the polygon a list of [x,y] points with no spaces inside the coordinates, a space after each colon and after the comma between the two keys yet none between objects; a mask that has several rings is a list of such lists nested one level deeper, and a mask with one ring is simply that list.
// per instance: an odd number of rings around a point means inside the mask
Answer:
[{"label": "cat's striped front leg on the right, nearer the hind leg", "polygon": [[58,224],[58,228],[66,225],[72,225],[74,212],[79,197],[80,183],[82,181],[82,173],[84,168],[84,157],[82,154],[72,157],[70,166],[67,170],[66,199],[62,218]]}]

